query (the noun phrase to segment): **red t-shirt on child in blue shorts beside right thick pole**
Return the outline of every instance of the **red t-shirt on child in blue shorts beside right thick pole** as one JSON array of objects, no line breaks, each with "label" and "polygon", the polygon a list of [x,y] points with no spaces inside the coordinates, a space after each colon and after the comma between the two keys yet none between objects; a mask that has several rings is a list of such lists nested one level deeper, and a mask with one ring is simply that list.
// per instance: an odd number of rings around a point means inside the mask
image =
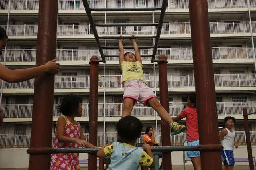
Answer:
[{"label": "red t-shirt on child in blue shorts beside right thick pole", "polygon": [[199,140],[198,135],[198,115],[196,108],[187,107],[179,114],[180,117],[186,118],[187,142]]}]

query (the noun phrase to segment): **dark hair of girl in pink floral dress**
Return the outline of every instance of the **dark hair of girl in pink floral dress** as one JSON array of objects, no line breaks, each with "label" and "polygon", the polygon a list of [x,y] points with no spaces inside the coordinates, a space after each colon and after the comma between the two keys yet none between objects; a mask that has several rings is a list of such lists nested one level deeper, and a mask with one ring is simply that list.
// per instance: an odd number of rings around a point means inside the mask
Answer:
[{"label": "dark hair of girl in pink floral dress", "polygon": [[58,105],[58,111],[63,115],[72,115],[78,112],[79,103],[82,103],[82,99],[78,95],[66,95]]}]

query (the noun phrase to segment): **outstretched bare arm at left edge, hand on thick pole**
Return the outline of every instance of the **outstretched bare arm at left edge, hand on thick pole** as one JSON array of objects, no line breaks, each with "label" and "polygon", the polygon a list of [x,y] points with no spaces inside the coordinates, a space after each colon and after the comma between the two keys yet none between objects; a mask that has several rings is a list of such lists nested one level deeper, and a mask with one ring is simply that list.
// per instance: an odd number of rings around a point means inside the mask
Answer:
[{"label": "outstretched bare arm at left edge, hand on thick pole", "polygon": [[57,59],[48,61],[45,65],[28,69],[11,70],[0,64],[0,79],[8,83],[19,83],[41,75],[42,73],[56,74],[60,69]]}]

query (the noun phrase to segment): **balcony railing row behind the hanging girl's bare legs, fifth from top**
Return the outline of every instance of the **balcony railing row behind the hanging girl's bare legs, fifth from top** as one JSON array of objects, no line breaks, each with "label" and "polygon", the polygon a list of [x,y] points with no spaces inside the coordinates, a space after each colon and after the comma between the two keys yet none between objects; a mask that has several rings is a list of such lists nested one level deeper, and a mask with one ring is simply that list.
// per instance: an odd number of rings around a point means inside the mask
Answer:
[{"label": "balcony railing row behind the hanging girl's bare legs, fifth from top", "polygon": [[[187,107],[187,103],[169,103],[169,114],[177,116],[181,111]],[[256,112],[256,102],[217,102],[218,116],[238,116],[242,115],[243,107],[246,107],[248,113]],[[1,105],[4,118],[31,118],[33,105]],[[105,117],[121,117],[123,111],[123,103],[105,103]],[[136,117],[155,116],[155,111],[151,107],[145,107],[138,103],[133,107],[131,113]],[[58,112],[56,104],[53,108],[53,117],[62,115]],[[98,104],[98,116],[104,116],[104,104]],[[82,117],[89,117],[89,103],[83,104]]]}]

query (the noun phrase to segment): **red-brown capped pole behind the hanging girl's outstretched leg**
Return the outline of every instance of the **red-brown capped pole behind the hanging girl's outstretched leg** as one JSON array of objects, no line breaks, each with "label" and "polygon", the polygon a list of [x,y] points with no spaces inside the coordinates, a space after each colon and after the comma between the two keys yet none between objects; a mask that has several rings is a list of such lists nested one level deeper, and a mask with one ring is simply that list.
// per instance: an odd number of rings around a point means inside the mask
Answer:
[{"label": "red-brown capped pole behind the hanging girl's outstretched leg", "polygon": [[[159,87],[160,87],[160,103],[169,113],[168,102],[168,82],[167,82],[167,58],[165,55],[160,55],[159,64]],[[170,127],[169,125],[161,125],[162,128],[162,146],[171,146]],[[163,170],[172,170],[171,153],[163,153]]]}]

